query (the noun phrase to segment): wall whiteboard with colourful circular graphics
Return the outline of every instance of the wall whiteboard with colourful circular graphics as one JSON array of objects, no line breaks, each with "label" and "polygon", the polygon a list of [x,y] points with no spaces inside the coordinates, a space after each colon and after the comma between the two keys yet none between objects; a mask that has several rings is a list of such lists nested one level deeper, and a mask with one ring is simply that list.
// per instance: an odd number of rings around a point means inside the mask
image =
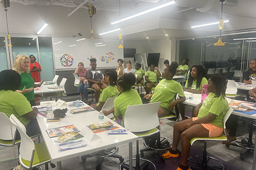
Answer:
[{"label": "wall whiteboard with colourful circular graphics", "polygon": [[[118,59],[123,59],[123,48],[118,48],[119,40],[53,37],[55,69],[76,69],[79,62],[90,68],[90,58],[97,59],[98,68],[118,67]],[[122,42],[123,44],[123,42]]]}]

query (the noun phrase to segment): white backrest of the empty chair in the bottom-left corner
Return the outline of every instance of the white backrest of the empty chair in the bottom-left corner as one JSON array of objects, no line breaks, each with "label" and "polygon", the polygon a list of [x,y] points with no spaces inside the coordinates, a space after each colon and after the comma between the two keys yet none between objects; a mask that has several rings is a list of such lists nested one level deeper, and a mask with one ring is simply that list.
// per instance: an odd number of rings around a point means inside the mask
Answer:
[{"label": "white backrest of the empty chair in the bottom-left corner", "polygon": [[31,161],[32,153],[34,150],[34,142],[32,141],[32,139],[30,139],[30,137],[28,137],[26,132],[24,132],[24,130],[20,128],[20,126],[18,125],[20,121],[17,119],[17,117],[15,117],[14,114],[10,115],[10,121],[15,125],[16,129],[19,131],[20,134],[21,142],[19,154],[21,158],[27,161]]}]

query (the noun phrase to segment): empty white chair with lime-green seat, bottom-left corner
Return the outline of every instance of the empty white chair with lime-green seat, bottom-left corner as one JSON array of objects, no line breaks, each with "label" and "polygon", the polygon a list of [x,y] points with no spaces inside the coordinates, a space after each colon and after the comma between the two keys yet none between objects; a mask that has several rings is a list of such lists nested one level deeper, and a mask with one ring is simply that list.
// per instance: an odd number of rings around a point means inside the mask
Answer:
[{"label": "empty white chair with lime-green seat, bottom-left corner", "polygon": [[40,167],[40,165],[45,164],[45,169],[49,169],[48,163],[51,162],[51,158],[46,146],[44,145],[44,142],[34,145],[32,139],[30,139],[26,132],[24,132],[24,130],[22,130],[20,127],[21,123],[14,114],[11,114],[10,121],[19,131],[21,137],[19,148],[20,165],[26,169],[31,169],[33,167]]}]

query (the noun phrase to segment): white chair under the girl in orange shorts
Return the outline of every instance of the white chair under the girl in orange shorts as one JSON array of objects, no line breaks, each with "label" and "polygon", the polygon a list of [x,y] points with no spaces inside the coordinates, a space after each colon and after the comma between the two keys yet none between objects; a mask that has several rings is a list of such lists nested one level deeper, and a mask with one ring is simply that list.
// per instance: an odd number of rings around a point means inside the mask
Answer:
[{"label": "white chair under the girl in orange shorts", "polygon": [[[228,117],[230,116],[230,114],[232,113],[233,109],[229,107],[228,111],[226,112],[224,118],[223,118],[223,127],[224,127],[224,132],[225,135],[220,135],[218,137],[196,137],[196,138],[192,138],[190,140],[191,146],[193,145],[193,143],[197,140],[203,140],[204,141],[204,151],[203,151],[203,156],[202,155],[195,155],[195,156],[191,156],[188,160],[189,162],[192,162],[193,165],[197,164],[199,165],[199,167],[203,167],[205,169],[225,169],[224,165],[218,161],[217,159],[213,158],[212,156],[207,156],[207,151],[206,151],[206,141],[207,140],[215,140],[215,141],[226,141],[227,140],[227,129],[226,129],[226,122],[228,120]],[[202,157],[202,160],[200,160],[199,158]],[[195,159],[196,158],[196,159]],[[215,160],[216,162],[218,162],[221,166],[220,167],[211,167],[210,165],[207,165],[207,162],[212,159]],[[200,169],[199,167],[190,167],[191,169]]]}]

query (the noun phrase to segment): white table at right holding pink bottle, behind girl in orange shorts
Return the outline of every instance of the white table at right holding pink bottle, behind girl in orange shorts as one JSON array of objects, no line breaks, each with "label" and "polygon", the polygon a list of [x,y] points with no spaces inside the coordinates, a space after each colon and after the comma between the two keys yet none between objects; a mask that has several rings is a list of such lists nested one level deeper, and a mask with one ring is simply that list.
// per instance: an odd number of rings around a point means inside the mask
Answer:
[{"label": "white table at right holding pink bottle, behind girl in orange shorts", "polygon": [[[228,103],[231,101],[230,98],[226,98],[226,99],[227,99]],[[234,100],[234,101],[235,102],[240,102],[240,100]],[[183,104],[187,104],[189,106],[196,106],[200,102],[201,102],[201,94],[194,94],[193,100],[185,100],[183,102]],[[243,114],[243,113],[237,112],[235,110],[232,111],[232,114],[235,114],[235,115],[238,115],[238,116],[243,116],[243,117],[248,117],[250,119],[256,119],[256,114],[252,114],[252,115]],[[256,140],[255,140],[254,146],[256,146]],[[255,165],[256,165],[256,149],[254,149],[254,152],[253,152],[252,170],[255,170]]]}]

